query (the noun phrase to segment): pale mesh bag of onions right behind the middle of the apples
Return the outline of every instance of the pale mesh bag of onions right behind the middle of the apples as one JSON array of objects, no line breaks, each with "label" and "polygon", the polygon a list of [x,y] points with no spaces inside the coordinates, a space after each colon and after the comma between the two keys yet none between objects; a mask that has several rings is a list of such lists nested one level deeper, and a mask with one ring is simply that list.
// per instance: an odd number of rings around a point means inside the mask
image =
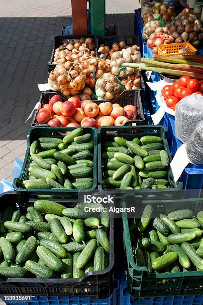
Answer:
[{"label": "pale mesh bag of onions right behind the middle of the apples", "polygon": [[111,73],[104,73],[95,85],[95,92],[99,101],[114,100],[123,91],[124,85]]}]

